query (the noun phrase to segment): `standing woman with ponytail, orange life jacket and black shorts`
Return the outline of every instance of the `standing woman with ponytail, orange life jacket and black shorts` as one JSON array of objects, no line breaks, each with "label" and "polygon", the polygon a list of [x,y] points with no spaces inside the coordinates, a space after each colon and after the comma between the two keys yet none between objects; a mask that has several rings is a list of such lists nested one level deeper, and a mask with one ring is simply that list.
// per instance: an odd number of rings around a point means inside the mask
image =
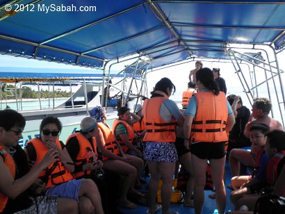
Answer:
[{"label": "standing woman with ponytail, orange life jacket and black shorts", "polygon": [[224,213],[226,192],[223,175],[225,170],[226,131],[234,126],[234,114],[224,92],[220,92],[211,69],[205,67],[196,74],[199,92],[191,97],[184,122],[186,148],[191,143],[192,164],[195,178],[195,213],[202,213],[204,186],[206,183],[206,161],[211,165],[216,203],[219,213]]}]

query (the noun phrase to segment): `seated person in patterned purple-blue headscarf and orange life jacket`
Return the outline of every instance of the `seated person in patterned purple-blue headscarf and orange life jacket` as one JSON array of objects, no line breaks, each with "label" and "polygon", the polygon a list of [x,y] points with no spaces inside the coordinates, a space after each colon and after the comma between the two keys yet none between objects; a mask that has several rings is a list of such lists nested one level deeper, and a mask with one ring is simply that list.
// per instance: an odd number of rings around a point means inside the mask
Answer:
[{"label": "seated person in patterned purple-blue headscarf and orange life jacket", "polygon": [[90,111],[90,116],[93,117],[98,124],[99,129],[97,129],[95,139],[97,147],[103,155],[104,170],[116,172],[124,176],[119,205],[124,208],[134,209],[137,206],[127,199],[127,195],[145,197],[142,192],[138,192],[138,190],[133,188],[138,176],[138,171],[133,165],[136,165],[138,157],[124,154],[119,143],[115,140],[112,129],[106,124],[106,112],[101,106],[93,108]]}]

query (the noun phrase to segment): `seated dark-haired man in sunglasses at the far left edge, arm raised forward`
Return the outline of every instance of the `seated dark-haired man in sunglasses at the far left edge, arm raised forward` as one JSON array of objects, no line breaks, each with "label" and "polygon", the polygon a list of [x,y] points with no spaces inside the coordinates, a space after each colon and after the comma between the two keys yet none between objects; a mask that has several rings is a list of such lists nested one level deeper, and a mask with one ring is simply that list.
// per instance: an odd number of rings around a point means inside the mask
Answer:
[{"label": "seated dark-haired man in sunglasses at the far left edge, arm raised forward", "polygon": [[58,152],[51,149],[29,172],[26,155],[17,143],[25,124],[15,110],[0,111],[0,213],[79,213],[74,199],[42,195],[45,187],[38,175],[57,160]]}]

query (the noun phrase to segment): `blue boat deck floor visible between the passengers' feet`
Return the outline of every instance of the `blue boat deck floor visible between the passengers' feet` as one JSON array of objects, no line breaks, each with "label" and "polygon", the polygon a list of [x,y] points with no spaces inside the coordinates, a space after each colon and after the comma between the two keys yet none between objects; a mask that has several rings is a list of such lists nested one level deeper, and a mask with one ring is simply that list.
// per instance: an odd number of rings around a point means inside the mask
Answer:
[{"label": "blue boat deck floor visible between the passengers' feet", "polygon": [[[228,161],[226,162],[225,165],[225,186],[227,186],[228,183],[230,183],[231,181],[231,172],[229,170],[229,163]],[[146,178],[147,183],[149,182],[149,177]],[[147,186],[147,185],[146,185]],[[146,186],[140,190],[142,192],[146,192]],[[218,213],[218,209],[217,206],[215,204],[215,199],[210,199],[208,196],[213,194],[214,192],[211,190],[205,190],[204,191],[204,207],[203,207],[203,212],[204,214],[210,214],[210,213]],[[231,193],[231,190],[229,190],[228,188],[226,188],[226,194],[227,194],[227,206],[225,209],[225,212],[227,211],[233,211],[234,210],[234,205],[231,204],[231,201],[229,199],[229,194]],[[138,213],[147,213],[147,206],[142,206],[140,204],[138,204],[138,208],[136,209],[126,209],[126,208],[122,208],[119,207],[120,211],[122,211],[122,213],[126,213],[126,214],[138,214]],[[189,207],[184,207],[183,204],[170,204],[170,211],[173,212],[179,212],[179,214],[181,213],[195,213],[194,208],[189,208]],[[161,214],[161,211],[157,212],[157,214]]]}]

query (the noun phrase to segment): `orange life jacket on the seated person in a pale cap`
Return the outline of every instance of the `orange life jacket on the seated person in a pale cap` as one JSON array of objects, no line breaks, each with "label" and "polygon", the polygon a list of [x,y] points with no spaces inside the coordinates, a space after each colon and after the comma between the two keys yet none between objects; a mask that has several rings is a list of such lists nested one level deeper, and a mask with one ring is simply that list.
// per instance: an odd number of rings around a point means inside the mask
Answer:
[{"label": "orange life jacket on the seated person in a pale cap", "polygon": [[[70,135],[70,137],[67,139],[70,140],[70,138],[76,137],[79,142],[79,154],[76,156],[76,160],[73,161],[75,165],[85,165],[86,163],[91,163],[92,161],[97,161],[97,145],[96,140],[93,137],[92,138],[92,146],[90,145],[90,142],[88,139],[86,139],[82,133],[76,132]],[[91,170],[86,170],[82,172],[75,172],[73,174],[74,178],[79,178],[81,176],[87,176],[91,174]]]}]

